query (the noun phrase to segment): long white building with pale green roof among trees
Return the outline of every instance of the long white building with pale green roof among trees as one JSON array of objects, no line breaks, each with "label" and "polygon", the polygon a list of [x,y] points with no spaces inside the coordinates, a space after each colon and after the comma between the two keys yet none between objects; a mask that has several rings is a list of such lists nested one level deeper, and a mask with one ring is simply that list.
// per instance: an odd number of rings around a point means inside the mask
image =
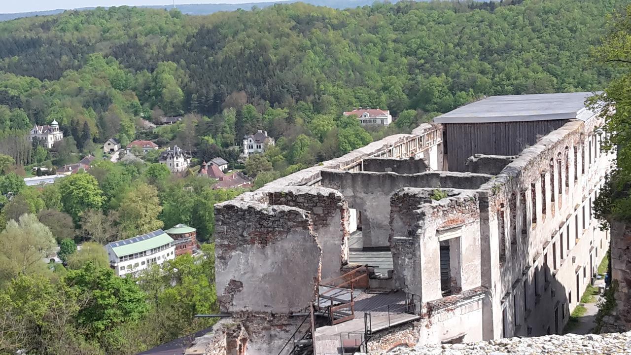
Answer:
[{"label": "long white building with pale green roof among trees", "polygon": [[174,240],[158,229],[134,238],[114,241],[105,245],[110,267],[116,275],[137,275],[153,264],[162,264],[175,258]]}]

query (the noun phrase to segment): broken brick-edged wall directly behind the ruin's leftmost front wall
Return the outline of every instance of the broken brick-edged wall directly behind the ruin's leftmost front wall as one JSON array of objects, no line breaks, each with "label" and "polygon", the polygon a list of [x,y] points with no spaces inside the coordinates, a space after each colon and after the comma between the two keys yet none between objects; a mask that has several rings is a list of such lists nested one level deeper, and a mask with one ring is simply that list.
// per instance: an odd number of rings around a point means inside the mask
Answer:
[{"label": "broken brick-edged wall directly behind the ruin's leftmost front wall", "polygon": [[310,212],[313,231],[322,248],[322,280],[339,276],[348,261],[348,203],[338,191],[292,186],[270,191],[269,205],[285,205]]}]

